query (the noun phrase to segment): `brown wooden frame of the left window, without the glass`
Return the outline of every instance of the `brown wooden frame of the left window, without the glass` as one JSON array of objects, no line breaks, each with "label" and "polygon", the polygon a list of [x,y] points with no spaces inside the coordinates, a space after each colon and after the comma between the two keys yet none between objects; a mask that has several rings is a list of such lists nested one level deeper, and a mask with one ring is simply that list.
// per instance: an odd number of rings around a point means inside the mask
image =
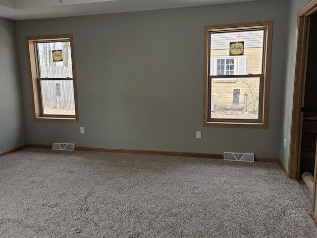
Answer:
[{"label": "brown wooden frame of the left window, without the glass", "polygon": [[[72,78],[40,78],[39,65],[37,59],[36,43],[43,42],[70,42],[71,60],[72,60]],[[29,65],[29,78],[31,87],[33,119],[34,121],[47,122],[78,122],[78,103],[77,103],[77,87],[75,74],[75,60],[72,34],[64,35],[48,35],[48,36],[26,36],[26,51]],[[43,113],[42,96],[41,96],[41,81],[42,80],[72,80],[74,90],[75,115],[48,115]]]}]

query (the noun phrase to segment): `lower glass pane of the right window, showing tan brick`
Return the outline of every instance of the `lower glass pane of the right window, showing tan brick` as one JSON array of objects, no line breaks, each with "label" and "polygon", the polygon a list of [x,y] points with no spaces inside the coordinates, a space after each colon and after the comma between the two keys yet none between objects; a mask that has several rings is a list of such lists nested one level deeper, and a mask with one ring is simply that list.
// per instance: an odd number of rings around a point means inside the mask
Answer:
[{"label": "lower glass pane of the right window, showing tan brick", "polygon": [[211,119],[259,119],[260,78],[211,81]]}]

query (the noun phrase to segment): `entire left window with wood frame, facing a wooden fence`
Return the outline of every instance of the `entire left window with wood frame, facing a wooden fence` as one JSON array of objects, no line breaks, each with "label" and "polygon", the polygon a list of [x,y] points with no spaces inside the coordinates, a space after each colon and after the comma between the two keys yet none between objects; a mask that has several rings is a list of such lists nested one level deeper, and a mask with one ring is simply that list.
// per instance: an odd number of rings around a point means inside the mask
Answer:
[{"label": "entire left window with wood frame, facing a wooden fence", "polygon": [[35,121],[78,122],[72,35],[26,37]]}]

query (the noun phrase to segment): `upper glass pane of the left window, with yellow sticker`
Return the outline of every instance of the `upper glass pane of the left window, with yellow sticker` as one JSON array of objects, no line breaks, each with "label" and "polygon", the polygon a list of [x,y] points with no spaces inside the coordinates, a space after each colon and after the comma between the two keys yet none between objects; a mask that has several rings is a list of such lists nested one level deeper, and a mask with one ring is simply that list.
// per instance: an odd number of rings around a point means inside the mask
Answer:
[{"label": "upper glass pane of the left window, with yellow sticker", "polygon": [[72,78],[70,42],[36,43],[40,78]]}]

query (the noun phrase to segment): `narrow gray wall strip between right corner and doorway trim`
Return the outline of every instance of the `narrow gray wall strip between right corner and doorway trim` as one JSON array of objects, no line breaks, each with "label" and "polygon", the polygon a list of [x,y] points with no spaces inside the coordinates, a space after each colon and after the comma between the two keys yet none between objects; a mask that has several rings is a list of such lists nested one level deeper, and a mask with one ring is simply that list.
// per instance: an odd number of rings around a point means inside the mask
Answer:
[{"label": "narrow gray wall strip between right corner and doorway trim", "polygon": [[[282,132],[280,138],[280,156],[283,164],[288,166],[289,156],[289,140],[291,130],[291,118],[293,107],[293,89],[294,89],[294,73],[295,58],[297,44],[297,14],[310,0],[289,0],[288,8],[288,33],[286,42],[286,60],[285,60],[285,85],[284,85],[284,103]],[[284,148],[284,138],[286,139],[286,147]]]}]

